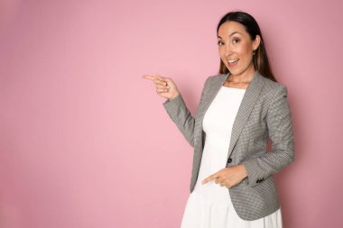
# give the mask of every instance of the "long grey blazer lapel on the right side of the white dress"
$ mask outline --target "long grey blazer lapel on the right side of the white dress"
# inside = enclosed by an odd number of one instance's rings
[[[238,108],[236,119],[232,127],[230,146],[227,151],[227,159],[230,157],[232,150],[236,145],[239,134],[242,132],[244,125],[246,124],[251,111],[255,105],[258,95],[260,94],[261,88],[264,86],[263,76],[256,71],[254,78],[250,82],[249,86],[246,87],[246,93],[243,96],[241,105]]]

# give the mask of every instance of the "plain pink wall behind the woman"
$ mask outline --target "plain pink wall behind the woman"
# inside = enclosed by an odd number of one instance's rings
[[[194,114],[235,9],[255,16],[289,91],[284,225],[341,227],[342,6],[0,0],[0,227],[180,227],[192,148],[142,75],[173,78]]]

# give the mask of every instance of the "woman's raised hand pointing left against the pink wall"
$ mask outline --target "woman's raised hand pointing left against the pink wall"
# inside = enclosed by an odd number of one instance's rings
[[[180,94],[178,87],[176,87],[172,78],[166,78],[159,75],[144,75],[143,78],[152,80],[156,86],[156,93],[168,100],[172,100]]]

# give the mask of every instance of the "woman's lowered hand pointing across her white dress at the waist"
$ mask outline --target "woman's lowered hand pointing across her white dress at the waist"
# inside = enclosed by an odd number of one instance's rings
[[[246,167],[244,165],[236,165],[220,169],[217,173],[202,180],[201,183],[204,185],[210,180],[215,179],[216,184],[220,184],[222,187],[233,187],[239,184],[246,177]]]

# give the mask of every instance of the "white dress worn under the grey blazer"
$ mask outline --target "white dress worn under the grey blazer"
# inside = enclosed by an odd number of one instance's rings
[[[203,179],[226,168],[231,130],[245,92],[246,89],[222,86],[204,115],[206,141],[199,177],[187,201],[181,228],[283,227],[281,209],[263,218],[246,221],[236,214],[227,187],[221,187],[215,180],[201,184]]]

